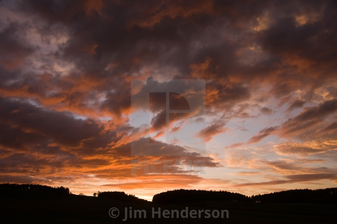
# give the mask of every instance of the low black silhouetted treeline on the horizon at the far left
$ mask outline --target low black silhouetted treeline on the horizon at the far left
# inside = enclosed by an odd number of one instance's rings
[[[69,194],[69,188],[67,187],[51,187],[47,185],[39,184],[0,184],[0,187],[4,188],[15,188],[20,190],[30,190],[30,191],[42,191],[48,193],[57,193],[57,194]]]

